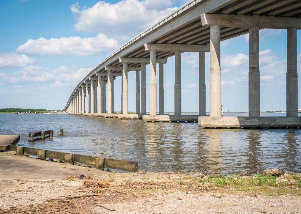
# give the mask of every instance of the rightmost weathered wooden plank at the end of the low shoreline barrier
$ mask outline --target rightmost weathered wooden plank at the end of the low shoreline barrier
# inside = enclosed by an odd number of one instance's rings
[[[123,171],[137,172],[138,162],[124,161],[124,160],[113,159],[113,158],[105,158],[104,167],[110,169],[123,170]]]

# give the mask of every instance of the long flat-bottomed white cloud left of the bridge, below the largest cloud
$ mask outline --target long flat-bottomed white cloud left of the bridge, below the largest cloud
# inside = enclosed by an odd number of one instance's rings
[[[81,38],[79,36],[45,39],[43,37],[29,39],[17,48],[17,52],[39,55],[91,55],[108,49],[117,48],[117,41],[103,34],[96,37]],[[23,55],[22,55],[23,56]],[[24,55],[25,56],[25,55]]]

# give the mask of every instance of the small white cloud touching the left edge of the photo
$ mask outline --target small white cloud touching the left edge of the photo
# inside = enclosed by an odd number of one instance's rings
[[[25,67],[32,64],[35,59],[29,58],[25,54],[17,53],[0,53],[0,68],[1,67]]]

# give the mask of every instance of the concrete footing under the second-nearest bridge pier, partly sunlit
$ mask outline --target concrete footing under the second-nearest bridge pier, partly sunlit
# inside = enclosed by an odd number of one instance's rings
[[[157,115],[143,115],[143,122],[197,122],[198,115],[168,115],[168,114],[157,114]]]

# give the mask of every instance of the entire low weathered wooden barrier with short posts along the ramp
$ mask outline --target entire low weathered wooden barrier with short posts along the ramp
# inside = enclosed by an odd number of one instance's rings
[[[52,158],[64,161],[68,164],[81,163],[95,166],[98,170],[105,168],[123,170],[129,172],[138,171],[138,162],[126,161],[113,158],[101,158],[89,155],[70,154],[66,152],[57,152],[47,149],[37,149],[25,146],[9,145],[9,150],[17,152],[17,155],[33,155],[40,159]]]

